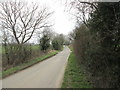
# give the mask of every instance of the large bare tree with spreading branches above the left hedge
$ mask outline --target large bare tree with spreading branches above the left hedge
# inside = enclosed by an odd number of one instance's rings
[[[0,23],[5,30],[11,32],[18,44],[29,41],[36,30],[48,27],[47,20],[52,13],[36,4],[0,2]]]

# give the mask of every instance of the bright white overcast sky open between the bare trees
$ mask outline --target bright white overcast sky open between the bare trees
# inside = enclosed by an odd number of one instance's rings
[[[26,0],[27,2],[37,2],[40,5],[47,6],[51,11],[54,11],[52,15],[52,21],[54,22],[53,31],[57,33],[63,33],[67,35],[74,29],[75,20],[68,12],[65,12],[64,2],[65,0]]]

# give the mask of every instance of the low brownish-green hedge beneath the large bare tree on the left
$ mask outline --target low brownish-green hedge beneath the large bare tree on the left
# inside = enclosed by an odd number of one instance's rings
[[[7,70],[11,67],[28,62],[40,55],[43,55],[42,51],[38,49],[34,50],[33,46],[24,44],[6,44],[3,45],[4,52],[2,52],[2,69]]]

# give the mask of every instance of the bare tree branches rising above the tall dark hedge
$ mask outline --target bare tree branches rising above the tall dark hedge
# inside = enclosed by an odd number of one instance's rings
[[[95,10],[97,10],[96,2],[82,2],[81,0],[66,0],[65,5],[66,10],[69,11],[70,14],[75,16],[77,24],[81,25],[82,23],[84,23],[87,27],[88,20],[91,18],[91,14]]]

